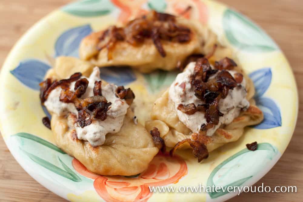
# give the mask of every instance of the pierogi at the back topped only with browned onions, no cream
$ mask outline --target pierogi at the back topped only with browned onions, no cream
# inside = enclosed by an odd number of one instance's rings
[[[173,70],[193,54],[229,55],[216,46],[217,36],[195,20],[151,11],[124,27],[112,26],[85,37],[79,48],[82,60],[99,67],[130,66],[148,73],[155,69]]]

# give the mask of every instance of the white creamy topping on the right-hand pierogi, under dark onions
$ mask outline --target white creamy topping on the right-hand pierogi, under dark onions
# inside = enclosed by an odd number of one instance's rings
[[[198,133],[201,124],[207,124],[205,118],[205,112],[197,111],[194,114],[185,114],[178,110],[179,104],[190,104],[194,103],[196,106],[198,104],[205,104],[204,101],[198,99],[195,96],[195,91],[191,86],[190,78],[194,73],[195,62],[191,62],[187,65],[184,72],[177,75],[175,81],[171,84],[169,88],[169,99],[171,99],[175,104],[175,110],[177,111],[179,120],[185,124],[192,132]],[[228,70],[228,72],[234,76],[236,71]],[[214,78],[217,74],[212,75],[210,78]],[[180,86],[181,83],[182,84]],[[219,124],[214,125],[211,129],[208,129],[207,135],[211,136],[215,131],[221,126],[221,124],[229,124],[236,117],[239,116],[241,108],[247,109],[249,107],[249,102],[246,100],[245,96],[247,91],[245,89],[246,81],[243,78],[241,84],[238,84],[233,90],[228,91],[226,98],[219,101],[219,111],[224,114],[224,116],[219,118]]]

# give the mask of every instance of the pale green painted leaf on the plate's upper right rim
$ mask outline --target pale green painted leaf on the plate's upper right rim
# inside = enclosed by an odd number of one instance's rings
[[[228,41],[246,51],[278,50],[274,41],[248,18],[227,9],[223,15],[223,28]]]

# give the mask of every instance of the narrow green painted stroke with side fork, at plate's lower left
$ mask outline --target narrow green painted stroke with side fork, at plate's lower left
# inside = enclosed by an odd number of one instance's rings
[[[61,175],[62,177],[65,177],[69,180],[72,180],[74,182],[80,182],[82,181],[78,176],[75,177],[74,175],[71,175],[70,173],[62,170],[61,168],[49,163],[48,161],[45,161],[44,159],[35,156],[34,154],[28,153],[27,151],[23,150],[21,147],[19,147],[21,151],[23,151],[32,161],[36,162],[37,164],[41,165],[42,167],[45,167],[46,169]],[[60,160],[61,161],[61,160]],[[62,162],[63,163],[63,162]],[[64,164],[64,163],[63,163]],[[65,165],[65,164],[64,164]],[[65,165],[66,166],[66,165]],[[69,169],[70,170],[70,169]]]

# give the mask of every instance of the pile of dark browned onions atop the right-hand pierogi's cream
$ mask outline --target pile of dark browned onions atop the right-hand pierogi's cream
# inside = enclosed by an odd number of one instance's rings
[[[235,74],[235,78],[225,69],[230,69],[236,66],[235,62],[229,58],[223,58],[217,62],[218,69],[211,69],[211,66],[207,58],[199,58],[196,61],[194,73],[191,75],[190,82],[195,89],[195,96],[201,101],[205,102],[203,106],[188,106],[185,108],[183,105],[179,105],[178,109],[183,110],[189,114],[195,113],[195,111],[204,111],[205,118],[208,125],[217,125],[219,123],[219,117],[223,116],[218,110],[218,103],[220,99],[226,98],[228,91],[235,88],[238,82],[242,81],[243,75],[240,73]],[[209,77],[215,73],[216,77],[209,79]]]

